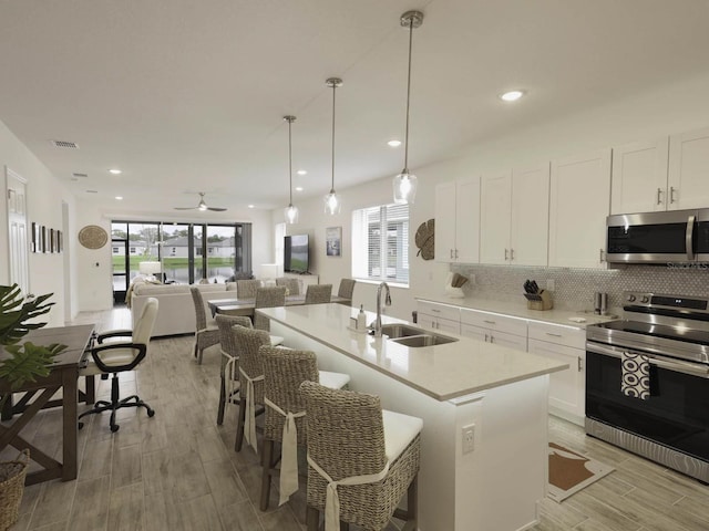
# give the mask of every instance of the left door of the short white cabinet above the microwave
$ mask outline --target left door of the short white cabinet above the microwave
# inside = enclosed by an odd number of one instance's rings
[[[651,212],[670,207],[668,152],[667,136],[613,148],[610,214]]]

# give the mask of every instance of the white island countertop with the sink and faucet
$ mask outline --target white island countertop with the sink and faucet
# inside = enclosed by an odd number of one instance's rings
[[[451,400],[568,368],[568,364],[552,358],[449,333],[438,335],[458,341],[435,346],[403,346],[387,337],[350,330],[350,317],[356,316],[358,310],[341,304],[268,308],[257,312],[438,400]],[[370,323],[376,314],[366,313]],[[407,321],[382,315],[382,323]]]

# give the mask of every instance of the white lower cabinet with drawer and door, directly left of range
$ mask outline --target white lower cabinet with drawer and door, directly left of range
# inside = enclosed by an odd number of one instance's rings
[[[586,332],[530,322],[527,350],[568,364],[549,375],[549,413],[583,425],[586,415]]]

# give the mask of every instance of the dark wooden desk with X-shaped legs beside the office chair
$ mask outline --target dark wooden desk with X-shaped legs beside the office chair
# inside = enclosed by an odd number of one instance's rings
[[[94,324],[45,327],[30,331],[21,342],[39,345],[59,343],[66,347],[54,356],[48,376],[38,377],[34,382],[24,382],[12,389],[13,397],[21,398],[6,407],[3,423],[0,424],[0,451],[8,446],[18,450],[29,448],[30,458],[39,470],[30,469],[25,485],[39,483],[60,478],[62,481],[76,479],[78,473],[78,405],[80,399],[88,404],[93,402],[93,378],[86,378],[86,392],[80,393],[79,369],[86,362],[95,339]],[[0,360],[10,354],[0,346]],[[0,396],[9,393],[7,381],[0,381]],[[61,398],[54,396],[61,392]],[[28,426],[41,409],[62,407],[62,460],[52,457],[54,448],[40,448],[23,437],[22,429]]]

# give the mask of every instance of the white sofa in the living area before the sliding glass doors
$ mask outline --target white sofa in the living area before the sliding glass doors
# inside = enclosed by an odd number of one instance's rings
[[[207,317],[210,316],[207,301],[213,299],[236,299],[236,283],[195,284],[202,292]],[[131,314],[133,326],[143,312],[145,302],[154,296],[158,301],[157,319],[153,326],[153,337],[195,333],[195,306],[188,284],[147,284],[133,285],[131,293]]]

